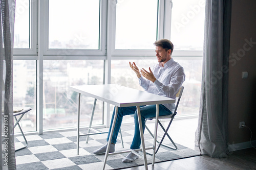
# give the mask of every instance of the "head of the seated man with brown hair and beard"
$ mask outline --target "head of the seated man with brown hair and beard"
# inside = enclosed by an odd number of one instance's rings
[[[168,39],[160,39],[154,43],[156,45],[156,56],[159,63],[164,65],[172,58],[174,45]]]

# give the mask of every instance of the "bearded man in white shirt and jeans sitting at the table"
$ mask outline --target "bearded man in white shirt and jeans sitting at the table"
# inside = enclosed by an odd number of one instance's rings
[[[136,73],[140,85],[145,91],[166,96],[168,98],[176,98],[176,94],[179,91],[182,83],[185,81],[184,69],[175,62],[172,58],[174,45],[167,39],[161,39],[154,43],[156,46],[156,56],[158,64],[156,64],[152,69],[146,71],[144,68],[139,70],[136,64],[129,62],[130,67]],[[172,114],[175,109],[175,104],[163,104],[159,105],[159,116]],[[110,130],[113,123],[115,109],[112,115]],[[145,119],[149,117],[154,117],[156,115],[156,105],[140,106],[141,120],[143,132],[145,129]],[[109,152],[115,152],[115,143],[117,139],[118,132],[121,127],[122,118],[124,115],[134,114],[135,123],[135,133],[130,149],[135,150],[140,148],[141,139],[139,131],[139,123],[136,106],[134,107],[121,107],[118,108],[118,114],[116,119],[116,124],[113,132],[113,137],[110,144]],[[109,140],[110,130],[106,140]],[[108,144],[108,143],[107,143]],[[95,150],[94,154],[105,153],[106,145],[98,150]],[[132,162],[138,158],[134,153],[129,153],[123,162]]]

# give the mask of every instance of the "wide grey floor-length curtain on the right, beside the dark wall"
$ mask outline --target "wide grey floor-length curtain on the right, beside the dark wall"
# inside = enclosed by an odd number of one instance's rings
[[[196,145],[201,154],[228,152],[228,60],[231,0],[206,0],[203,72]]]

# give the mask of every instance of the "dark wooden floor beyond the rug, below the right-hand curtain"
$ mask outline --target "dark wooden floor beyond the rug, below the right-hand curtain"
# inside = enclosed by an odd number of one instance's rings
[[[144,166],[125,168],[125,170],[142,170]],[[154,170],[254,170],[256,169],[256,150],[254,148],[235,151],[227,158],[211,158],[209,156],[196,156],[148,165]]]

